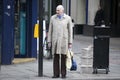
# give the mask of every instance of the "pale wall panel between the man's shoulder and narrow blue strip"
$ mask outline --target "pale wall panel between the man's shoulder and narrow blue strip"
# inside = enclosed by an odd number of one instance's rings
[[[71,0],[71,17],[76,24],[85,24],[86,0]]]

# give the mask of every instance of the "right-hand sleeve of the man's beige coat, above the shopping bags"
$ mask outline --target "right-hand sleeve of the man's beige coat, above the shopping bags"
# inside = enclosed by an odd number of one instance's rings
[[[68,20],[68,43],[72,43],[73,27],[71,17]]]

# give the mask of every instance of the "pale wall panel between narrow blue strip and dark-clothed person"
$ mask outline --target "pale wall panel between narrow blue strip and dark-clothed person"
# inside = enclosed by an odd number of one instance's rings
[[[88,1],[88,25],[94,25],[94,17],[99,7],[99,0]]]

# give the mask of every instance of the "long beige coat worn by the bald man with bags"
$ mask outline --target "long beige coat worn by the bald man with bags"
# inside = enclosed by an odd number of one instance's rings
[[[64,14],[59,19],[53,15],[49,23],[48,42],[52,43],[52,54],[66,54],[68,43],[72,43],[72,20]]]

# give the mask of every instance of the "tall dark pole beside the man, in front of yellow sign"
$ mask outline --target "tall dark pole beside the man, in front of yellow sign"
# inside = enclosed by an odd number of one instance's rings
[[[39,0],[39,60],[38,76],[43,76],[43,0]]]

